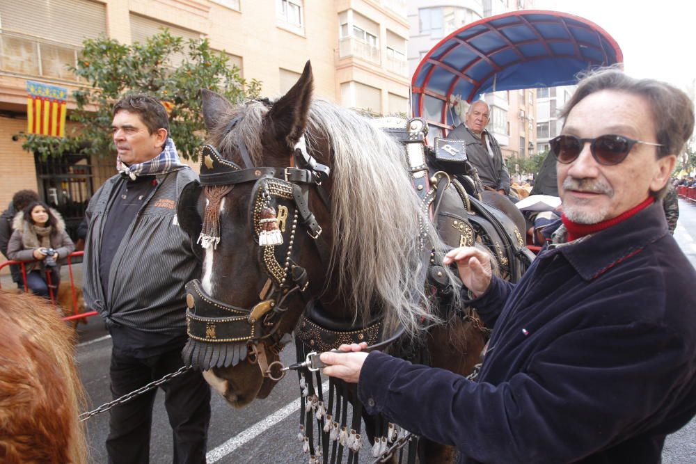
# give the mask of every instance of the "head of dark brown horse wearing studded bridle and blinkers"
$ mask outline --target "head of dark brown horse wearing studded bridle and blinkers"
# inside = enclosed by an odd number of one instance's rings
[[[331,179],[321,164],[325,143],[313,141],[309,154],[304,142],[312,85],[307,63],[272,105],[232,105],[202,91],[209,131],[200,153],[203,189],[184,191],[179,207],[184,226],[196,222],[191,211],[202,213],[203,275],[187,285],[184,358],[234,406],[270,392],[283,335],[306,295],[325,285]]]

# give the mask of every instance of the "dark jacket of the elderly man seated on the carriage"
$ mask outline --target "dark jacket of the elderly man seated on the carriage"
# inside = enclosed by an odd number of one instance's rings
[[[484,148],[481,138],[463,124],[455,127],[447,138],[464,141],[466,143],[466,157],[477,168],[481,183],[491,187],[491,189],[504,190],[507,195],[510,193],[510,175],[505,167],[503,152],[500,151],[500,145],[493,134],[489,131],[484,131],[484,133],[491,142],[492,157]]]

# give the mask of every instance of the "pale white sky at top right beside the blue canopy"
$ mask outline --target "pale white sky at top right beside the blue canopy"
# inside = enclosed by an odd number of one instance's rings
[[[690,0],[536,0],[535,9],[589,19],[621,47],[633,77],[689,90],[696,79],[696,2]]]

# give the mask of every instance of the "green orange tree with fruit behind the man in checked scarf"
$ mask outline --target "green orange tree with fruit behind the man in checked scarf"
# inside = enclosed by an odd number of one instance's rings
[[[199,89],[207,88],[238,102],[257,97],[261,83],[245,81],[239,68],[228,67],[222,51],[210,48],[207,39],[184,41],[167,29],[145,43],[122,45],[99,38],[83,42],[77,67],[70,69],[89,84],[73,93],[77,109],[70,120],[79,122],[65,138],[24,134],[24,150],[41,157],[64,153],[113,154],[111,109],[129,92],[147,93],[160,99],[170,111],[169,124],[177,150],[184,158],[198,158],[205,135]]]

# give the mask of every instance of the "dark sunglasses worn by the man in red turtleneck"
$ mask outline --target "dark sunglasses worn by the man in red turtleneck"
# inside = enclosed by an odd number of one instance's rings
[[[583,151],[585,143],[590,142],[590,152],[592,157],[599,164],[612,166],[621,163],[626,159],[628,152],[631,151],[636,143],[663,147],[659,143],[643,142],[632,138],[608,134],[597,138],[580,138],[576,136],[561,135],[548,141],[551,151],[559,163],[572,163]]]

